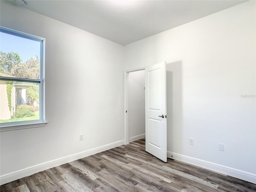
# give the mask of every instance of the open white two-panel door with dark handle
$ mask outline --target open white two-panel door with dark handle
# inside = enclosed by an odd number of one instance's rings
[[[146,151],[167,162],[166,62],[145,70]]]

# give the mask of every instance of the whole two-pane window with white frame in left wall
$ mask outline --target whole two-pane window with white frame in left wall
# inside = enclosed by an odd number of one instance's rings
[[[44,38],[0,28],[0,126],[45,124]]]

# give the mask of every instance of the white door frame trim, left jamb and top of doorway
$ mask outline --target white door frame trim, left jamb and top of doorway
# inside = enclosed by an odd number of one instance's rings
[[[135,72],[135,71],[141,71],[145,70],[146,67],[141,67],[141,68],[136,68],[132,70],[125,70],[124,71],[124,144],[128,145],[129,142],[129,129],[128,129],[128,84],[127,84],[127,79],[128,79],[128,74],[130,72]]]

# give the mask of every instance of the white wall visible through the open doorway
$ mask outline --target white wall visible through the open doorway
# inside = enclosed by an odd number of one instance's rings
[[[127,86],[129,138],[137,140],[145,134],[145,70],[130,72]]]

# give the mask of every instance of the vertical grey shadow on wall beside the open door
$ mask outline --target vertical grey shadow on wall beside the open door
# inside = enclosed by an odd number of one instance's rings
[[[182,61],[166,64],[167,151],[182,152]],[[182,153],[181,153],[182,154]]]

